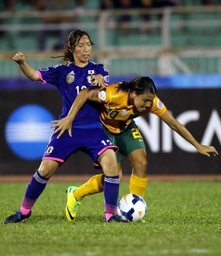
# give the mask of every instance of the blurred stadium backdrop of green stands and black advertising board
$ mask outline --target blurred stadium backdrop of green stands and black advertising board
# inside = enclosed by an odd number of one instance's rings
[[[200,143],[213,145],[221,154],[219,0],[105,10],[100,9],[101,0],[85,0],[82,8],[72,0],[69,9],[42,11],[33,8],[33,1],[16,0],[13,10],[6,8],[6,2],[0,3],[0,175],[31,174],[38,168],[50,137],[50,121],[61,112],[54,87],[29,81],[12,57],[24,52],[34,69],[58,64],[59,59],[51,56],[62,53],[59,31],[73,29],[91,35],[95,42],[91,60],[106,65],[110,83],[129,81],[135,73],[150,76],[158,97],[174,116]],[[122,20],[125,15],[129,18]],[[54,17],[61,21],[45,22]],[[135,121],[147,145],[149,174],[221,173],[220,156],[198,154],[155,116]],[[126,158],[122,165],[123,173],[130,174]],[[91,159],[81,152],[58,172],[96,173]]]

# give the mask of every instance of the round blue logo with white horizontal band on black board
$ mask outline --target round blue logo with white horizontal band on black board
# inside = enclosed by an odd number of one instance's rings
[[[12,152],[21,159],[41,159],[48,145],[54,116],[37,104],[17,108],[7,120],[5,139]]]

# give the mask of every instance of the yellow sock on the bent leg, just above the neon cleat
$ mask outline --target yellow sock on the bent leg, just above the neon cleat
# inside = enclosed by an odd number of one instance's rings
[[[90,194],[97,194],[104,191],[104,185],[102,183],[102,175],[104,174],[98,174],[94,175],[90,178],[86,183],[78,187],[76,190],[74,190],[74,197],[77,200],[82,200],[85,196],[88,196]]]

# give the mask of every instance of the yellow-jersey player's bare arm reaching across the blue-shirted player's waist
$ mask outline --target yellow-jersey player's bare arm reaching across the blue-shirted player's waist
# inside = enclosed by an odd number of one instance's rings
[[[50,126],[50,128],[58,127],[56,130],[54,130],[52,134],[54,135],[60,132],[57,137],[57,139],[59,139],[60,136],[63,135],[65,130],[68,130],[69,135],[72,137],[72,132],[71,132],[72,123],[75,117],[77,116],[77,113],[84,106],[87,100],[98,102],[99,92],[100,92],[100,88],[91,88],[91,89],[86,88],[84,90],[81,90],[79,92],[79,95],[77,95],[76,99],[74,100],[74,103],[72,104],[72,107],[68,115],[63,119],[51,121],[51,123],[55,123],[55,124]]]

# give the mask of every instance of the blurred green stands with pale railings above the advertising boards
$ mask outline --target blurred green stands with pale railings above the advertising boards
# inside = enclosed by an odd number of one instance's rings
[[[121,21],[122,15],[130,15],[130,21]],[[72,17],[72,22],[45,24],[49,16]],[[23,76],[12,62],[19,50],[36,69],[57,64],[51,55],[61,53],[54,49],[59,38],[49,37],[49,47],[40,51],[39,31],[76,28],[90,33],[93,61],[104,63],[113,75],[221,73],[221,5],[216,5],[0,12],[0,76]]]

